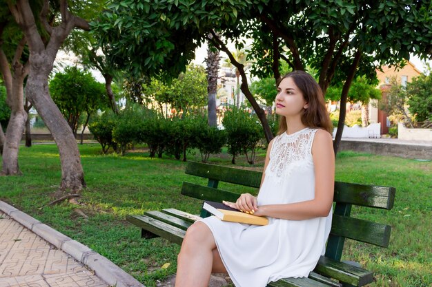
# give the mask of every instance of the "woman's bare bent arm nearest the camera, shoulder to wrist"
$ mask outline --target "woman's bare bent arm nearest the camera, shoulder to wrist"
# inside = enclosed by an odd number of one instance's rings
[[[313,164],[315,169],[315,198],[291,204],[258,206],[255,215],[264,215],[286,220],[306,220],[328,215],[333,204],[335,182],[335,155],[333,140],[328,132],[319,129],[313,140]]]

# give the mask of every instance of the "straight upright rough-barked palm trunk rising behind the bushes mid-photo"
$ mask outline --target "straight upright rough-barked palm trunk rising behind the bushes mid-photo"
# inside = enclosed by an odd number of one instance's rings
[[[207,49],[207,92],[208,92],[208,125],[217,126],[216,114],[216,94],[217,94],[217,76],[219,74],[219,51],[213,52]]]

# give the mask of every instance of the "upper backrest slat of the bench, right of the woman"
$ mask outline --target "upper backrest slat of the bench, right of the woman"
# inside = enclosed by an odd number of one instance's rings
[[[335,182],[334,201],[379,209],[392,209],[395,193],[394,187]]]

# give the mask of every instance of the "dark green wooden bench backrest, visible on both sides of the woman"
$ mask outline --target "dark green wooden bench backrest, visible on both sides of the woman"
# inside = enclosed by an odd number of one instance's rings
[[[184,182],[181,194],[212,201],[235,201],[239,197],[238,193],[217,189],[219,181],[259,188],[262,178],[262,173],[258,171],[201,162],[189,162],[185,172],[192,176],[208,178],[208,184],[205,187]],[[389,210],[393,208],[394,200],[395,188],[393,187],[335,182],[333,222],[331,234],[328,237],[326,257],[340,260],[345,238],[387,247],[391,226],[350,217],[351,206],[358,205]],[[202,211],[201,215],[206,217],[208,213]]]

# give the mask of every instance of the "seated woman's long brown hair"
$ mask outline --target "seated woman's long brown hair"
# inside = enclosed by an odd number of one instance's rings
[[[310,74],[303,71],[294,71],[283,76],[278,82],[277,86],[284,78],[292,78],[295,85],[300,89],[303,94],[304,100],[308,103],[308,108],[302,111],[302,123],[306,127],[320,128],[333,134],[333,124],[331,123],[330,116],[326,109],[324,101],[324,94],[320,85],[315,81]],[[286,131],[286,119],[280,116],[279,130],[277,134],[282,134]]]

